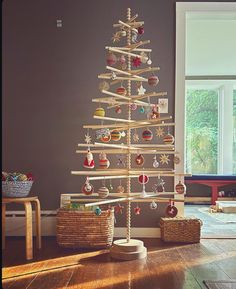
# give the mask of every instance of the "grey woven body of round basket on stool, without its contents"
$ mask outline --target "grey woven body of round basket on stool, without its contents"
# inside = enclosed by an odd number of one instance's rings
[[[24,198],[29,195],[33,181],[2,181],[2,196],[5,198]]]

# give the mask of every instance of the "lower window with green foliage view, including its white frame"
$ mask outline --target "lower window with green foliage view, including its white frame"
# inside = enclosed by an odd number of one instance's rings
[[[186,81],[185,167],[193,174],[236,174],[236,97],[223,81]]]

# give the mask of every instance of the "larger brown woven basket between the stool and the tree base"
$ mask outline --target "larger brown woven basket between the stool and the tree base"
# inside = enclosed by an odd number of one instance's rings
[[[59,209],[57,243],[66,248],[107,248],[112,245],[114,210],[93,211]]]

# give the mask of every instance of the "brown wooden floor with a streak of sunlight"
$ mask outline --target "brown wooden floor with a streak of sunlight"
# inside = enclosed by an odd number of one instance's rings
[[[148,257],[116,261],[108,250],[71,250],[43,238],[25,261],[24,239],[8,238],[3,253],[4,289],[199,289],[203,280],[236,279],[236,241],[204,239],[199,244],[164,244],[143,239]]]

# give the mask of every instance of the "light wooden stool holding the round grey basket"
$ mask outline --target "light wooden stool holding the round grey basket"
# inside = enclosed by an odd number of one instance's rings
[[[36,246],[41,249],[41,219],[40,202],[38,197],[29,198],[3,198],[2,199],[2,247],[5,248],[5,226],[6,226],[6,204],[19,203],[25,206],[25,238],[26,238],[26,259],[33,258],[33,230],[32,230],[32,206],[35,204],[35,225],[36,225]]]

